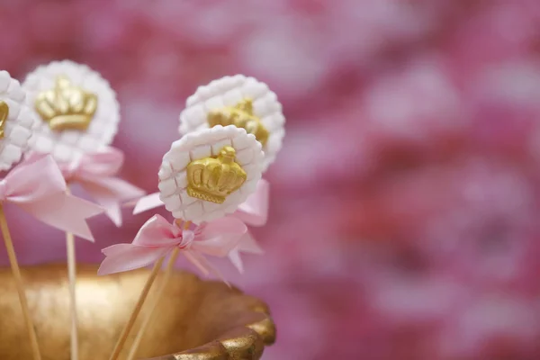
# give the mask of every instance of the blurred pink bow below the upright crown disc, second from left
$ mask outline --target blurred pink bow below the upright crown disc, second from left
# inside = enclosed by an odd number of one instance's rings
[[[144,191],[115,175],[123,164],[123,153],[116,148],[84,154],[75,164],[58,164],[67,183],[80,184],[105,209],[116,226],[121,226],[121,203],[139,198]]]

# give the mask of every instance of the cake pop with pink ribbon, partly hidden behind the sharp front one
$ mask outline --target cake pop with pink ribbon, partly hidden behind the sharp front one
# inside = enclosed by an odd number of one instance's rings
[[[200,86],[186,101],[180,113],[181,135],[208,129],[216,125],[234,125],[253,134],[265,153],[263,172],[274,162],[284,139],[284,113],[277,96],[265,83],[254,77],[224,76]],[[261,180],[256,191],[238,207],[234,216],[250,226],[266,224],[269,202],[269,184]],[[157,193],[149,194],[136,203],[133,213],[148,211],[162,205]],[[240,242],[238,249],[230,253],[230,259],[242,269],[239,252],[260,254],[261,248],[249,234]]]

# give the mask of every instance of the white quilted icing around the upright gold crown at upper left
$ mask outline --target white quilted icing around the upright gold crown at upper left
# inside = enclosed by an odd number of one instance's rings
[[[72,85],[97,95],[97,110],[88,129],[53,131],[34,110],[36,96],[54,88],[58,76],[67,76]],[[27,104],[38,121],[29,147],[33,151],[50,153],[57,161],[76,161],[84,153],[95,152],[109,145],[118,130],[120,105],[107,80],[85,65],[73,61],[54,61],[37,67],[23,82]]]

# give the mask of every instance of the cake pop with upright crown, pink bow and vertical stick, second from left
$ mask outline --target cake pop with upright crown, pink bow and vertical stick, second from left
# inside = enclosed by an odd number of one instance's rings
[[[79,184],[121,225],[121,202],[142,196],[138,187],[116,177],[123,153],[109,147],[120,122],[120,105],[109,83],[97,72],[72,61],[37,67],[25,79],[27,103],[37,121],[29,157],[50,154],[67,184]],[[67,192],[70,189],[67,187]],[[78,359],[76,320],[76,251],[66,234],[71,297],[71,360]]]

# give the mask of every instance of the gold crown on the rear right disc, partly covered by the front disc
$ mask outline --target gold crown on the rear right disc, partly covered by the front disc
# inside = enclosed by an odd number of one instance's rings
[[[213,110],[206,117],[210,127],[216,125],[234,125],[243,128],[248,134],[253,134],[261,145],[265,146],[270,133],[266,130],[263,122],[253,113],[253,101],[244,99],[235,106],[225,106],[218,110]]]

